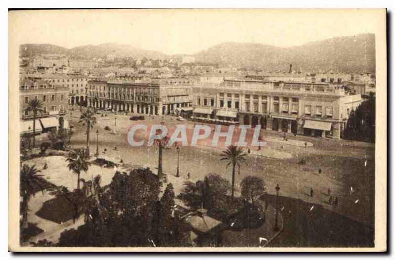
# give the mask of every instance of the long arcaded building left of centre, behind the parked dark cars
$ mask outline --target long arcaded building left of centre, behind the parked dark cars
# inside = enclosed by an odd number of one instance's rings
[[[149,82],[92,80],[88,82],[88,106],[138,114],[167,115],[190,107],[193,82],[184,78]]]

